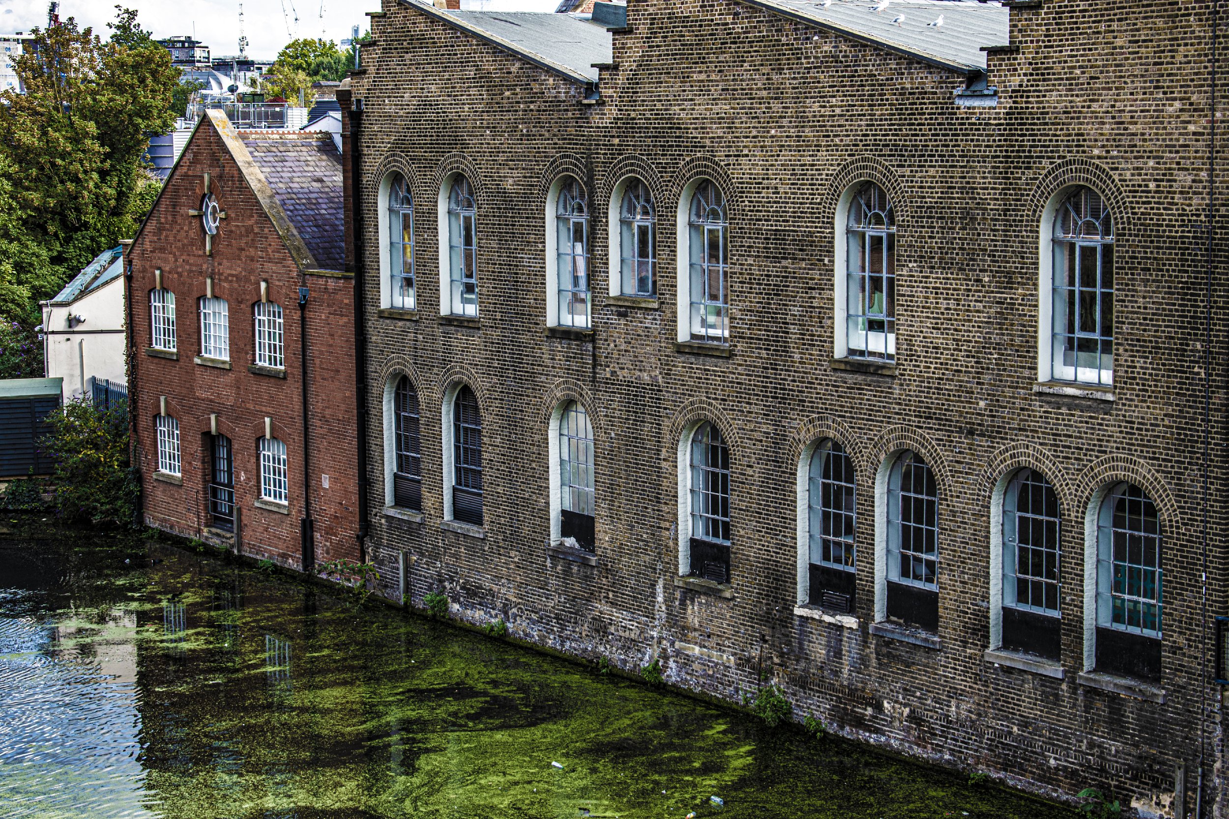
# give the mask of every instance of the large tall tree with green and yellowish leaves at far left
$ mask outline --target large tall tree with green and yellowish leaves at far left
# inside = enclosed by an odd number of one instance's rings
[[[37,341],[37,301],[54,296],[102,250],[136,232],[159,183],[141,165],[150,134],[175,123],[179,71],[119,9],[111,39],[73,18],[34,28],[14,71],[26,93],[0,93],[0,322],[11,343]],[[38,375],[37,361],[0,375]]]

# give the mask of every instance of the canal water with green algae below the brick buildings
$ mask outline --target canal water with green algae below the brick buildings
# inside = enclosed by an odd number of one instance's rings
[[[289,577],[0,535],[5,817],[691,812],[1073,815]]]

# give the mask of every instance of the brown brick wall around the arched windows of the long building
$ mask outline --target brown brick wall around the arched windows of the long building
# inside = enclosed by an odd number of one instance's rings
[[[504,618],[517,636],[624,668],[656,656],[672,683],[730,700],[764,670],[799,717],[1045,793],[1097,785],[1170,815],[1175,765],[1186,763],[1193,802],[1204,705],[1209,777],[1222,742],[1200,669],[1207,15],[1206,4],[1016,9],[1020,52],[991,55],[998,107],[960,108],[960,76],[906,56],[737,2],[633,0],[629,31],[614,36],[617,68],[602,71],[606,102],[590,107],[563,79],[386,0],[354,79],[366,112],[371,553],[386,577],[406,551],[415,600],[445,588],[471,621]],[[543,203],[552,174],[578,166],[595,214],[592,341],[544,333]],[[413,320],[377,316],[376,187],[393,167],[419,205]],[[462,167],[478,198],[481,329],[436,318],[435,203],[444,176]],[[602,295],[606,203],[629,167],[659,205],[651,309]],[[673,347],[673,210],[696,176],[719,182],[729,201],[728,359]],[[830,365],[836,201],[863,178],[897,208],[893,376]],[[1034,392],[1040,214],[1073,182],[1115,209],[1113,402]],[[1218,307],[1223,295],[1218,280]],[[380,514],[381,394],[399,372],[423,408],[422,523]],[[481,539],[440,526],[440,404],[458,379],[483,410]],[[596,566],[544,549],[547,422],[567,397],[595,425]],[[701,417],[731,448],[731,599],[673,584],[676,447]],[[823,436],[858,469],[853,627],[794,613],[798,458]],[[905,446],[939,475],[938,650],[869,631],[875,472]],[[1021,465],[1043,472],[1062,503],[1062,680],[983,659],[991,492]],[[1163,704],[1077,679],[1084,513],[1099,486],[1123,479],[1149,491],[1165,526]],[[1219,505],[1209,544],[1209,608],[1219,611]]]

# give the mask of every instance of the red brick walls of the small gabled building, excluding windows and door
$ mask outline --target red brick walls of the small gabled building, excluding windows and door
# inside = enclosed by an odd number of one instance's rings
[[[205,255],[199,216],[204,174],[226,219]],[[253,195],[221,139],[206,122],[184,150],[157,205],[132,246],[133,338],[135,354],[134,430],[141,469],[146,522],[186,537],[200,538],[209,526],[208,483],[210,415],[231,438],[235,502],[241,512],[245,554],[288,566],[301,565],[300,518],[304,514],[304,446],[299,287],[310,290],[307,365],[311,415],[312,514],[316,560],[356,559],[358,468],[354,435],[354,291],[353,279],[299,274],[285,244]],[[175,292],[178,360],[146,355],[151,344],[149,291],[155,269]],[[229,302],[231,368],[194,363],[200,352],[197,300],[213,276],[214,295]],[[261,281],[269,301],[281,306],[285,322],[285,377],[248,372],[254,362],[252,306]],[[167,398],[167,413],[179,421],[183,484],[152,478],[157,469],[154,416]],[[259,508],[257,438],[264,419],[286,444],[289,514]],[[329,476],[328,489],[322,476]],[[208,537],[208,535],[205,535]]]

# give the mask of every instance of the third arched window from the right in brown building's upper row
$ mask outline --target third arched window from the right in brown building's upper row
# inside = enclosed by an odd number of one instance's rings
[[[713,182],[704,179],[696,187],[688,223],[691,339],[724,344],[730,340],[730,223],[725,196]]]

